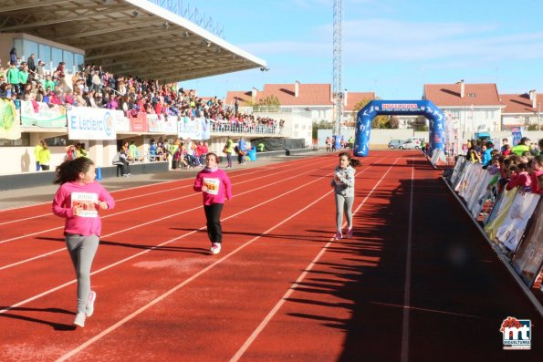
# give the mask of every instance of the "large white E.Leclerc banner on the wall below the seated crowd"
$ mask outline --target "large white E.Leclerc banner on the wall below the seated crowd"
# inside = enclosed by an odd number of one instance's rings
[[[72,107],[68,109],[70,140],[117,140],[113,119],[118,110]]]

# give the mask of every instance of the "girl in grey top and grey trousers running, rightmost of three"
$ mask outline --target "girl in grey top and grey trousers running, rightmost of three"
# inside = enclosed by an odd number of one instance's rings
[[[351,159],[349,152],[339,153],[339,165],[336,167],[334,177],[330,185],[334,188],[336,198],[336,236],[339,240],[343,237],[341,224],[343,212],[347,217],[347,238],[352,236],[352,204],[354,203],[354,173],[355,167],[360,166],[360,160]]]

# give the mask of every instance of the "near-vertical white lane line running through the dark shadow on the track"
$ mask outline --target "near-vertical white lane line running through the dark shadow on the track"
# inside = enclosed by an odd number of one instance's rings
[[[403,285],[402,362],[409,361],[409,311],[411,309],[411,252],[412,252],[412,194],[414,187],[414,159],[411,159],[411,191],[409,197],[409,226],[405,255],[405,284]]]

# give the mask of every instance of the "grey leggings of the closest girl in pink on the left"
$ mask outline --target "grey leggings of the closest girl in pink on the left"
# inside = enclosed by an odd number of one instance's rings
[[[78,278],[78,313],[85,312],[90,294],[90,265],[98,250],[98,235],[66,234],[66,247]]]

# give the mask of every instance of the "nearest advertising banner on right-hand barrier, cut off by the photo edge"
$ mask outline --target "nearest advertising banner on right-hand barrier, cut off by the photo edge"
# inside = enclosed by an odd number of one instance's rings
[[[543,202],[539,202],[530,224],[513,258],[513,267],[528,286],[534,284],[543,265]]]

